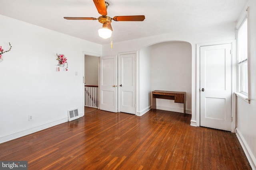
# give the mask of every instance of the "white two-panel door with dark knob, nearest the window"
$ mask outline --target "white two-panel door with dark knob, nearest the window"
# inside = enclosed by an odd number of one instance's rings
[[[231,131],[231,44],[200,47],[200,126]]]

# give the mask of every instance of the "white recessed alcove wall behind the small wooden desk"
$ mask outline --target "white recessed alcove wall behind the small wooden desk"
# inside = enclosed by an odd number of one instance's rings
[[[169,41],[150,46],[151,91],[186,92],[186,113],[191,113],[191,61],[190,43]],[[184,106],[174,100],[156,99],[156,108],[183,113]]]

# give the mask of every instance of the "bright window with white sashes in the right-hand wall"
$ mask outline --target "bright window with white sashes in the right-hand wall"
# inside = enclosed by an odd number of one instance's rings
[[[247,18],[237,29],[238,92],[248,96]]]

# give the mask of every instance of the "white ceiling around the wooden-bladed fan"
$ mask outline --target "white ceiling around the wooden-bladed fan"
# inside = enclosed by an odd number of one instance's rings
[[[248,0],[106,0],[108,16],[145,15],[144,21],[113,21],[113,41],[126,41],[177,30],[194,30],[235,22]],[[98,20],[65,20],[100,14],[93,0],[0,0],[0,14],[107,44],[98,36]],[[8,23],[0,23],[8,24]]]

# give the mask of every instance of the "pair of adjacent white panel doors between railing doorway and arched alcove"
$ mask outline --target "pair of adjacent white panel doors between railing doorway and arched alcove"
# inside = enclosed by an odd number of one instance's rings
[[[100,57],[100,109],[136,113],[136,52]]]

